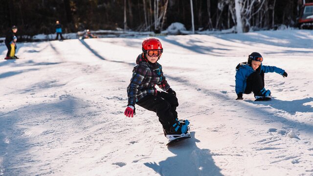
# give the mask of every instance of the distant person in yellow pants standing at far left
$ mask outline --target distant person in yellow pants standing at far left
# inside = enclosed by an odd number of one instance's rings
[[[16,41],[18,38],[16,37],[16,32],[18,31],[18,28],[14,25],[12,26],[11,30],[5,35],[5,45],[8,48],[8,52],[6,53],[6,57],[4,59],[19,59],[15,55],[16,51]]]

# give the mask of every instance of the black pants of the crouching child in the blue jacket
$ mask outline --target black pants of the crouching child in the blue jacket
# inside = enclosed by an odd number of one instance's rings
[[[254,95],[258,94],[264,88],[264,72],[261,74],[258,71],[253,72],[246,80],[245,94],[250,94],[252,91]]]

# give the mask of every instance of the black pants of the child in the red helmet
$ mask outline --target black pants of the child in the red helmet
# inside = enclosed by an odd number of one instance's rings
[[[178,100],[175,95],[166,92],[157,92],[157,95],[146,95],[139,100],[137,105],[146,110],[156,112],[158,120],[161,122],[164,129],[168,130],[177,119]]]

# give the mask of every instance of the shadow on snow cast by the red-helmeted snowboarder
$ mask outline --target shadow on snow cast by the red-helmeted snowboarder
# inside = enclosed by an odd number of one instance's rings
[[[168,146],[168,150],[175,156],[164,161],[144,163],[161,176],[223,176],[221,169],[215,165],[209,149],[199,149],[195,132],[190,132],[192,138],[180,141],[176,145]]]

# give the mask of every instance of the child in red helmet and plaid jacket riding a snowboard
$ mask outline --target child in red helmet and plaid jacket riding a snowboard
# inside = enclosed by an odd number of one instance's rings
[[[170,88],[163,76],[162,66],[157,63],[162,52],[162,44],[158,39],[149,38],[142,42],[142,53],[136,59],[137,65],[134,66],[133,77],[127,88],[128,105],[124,114],[133,117],[137,104],[156,112],[165,135],[187,133],[189,121],[179,122],[176,92]],[[157,91],[156,85],[164,91]]]

